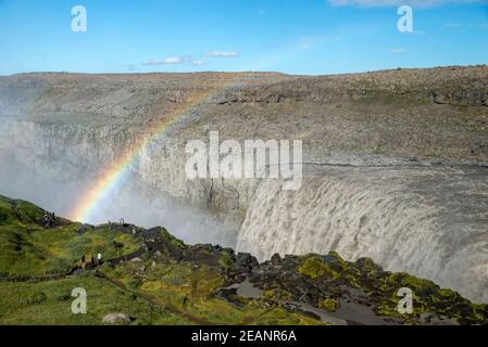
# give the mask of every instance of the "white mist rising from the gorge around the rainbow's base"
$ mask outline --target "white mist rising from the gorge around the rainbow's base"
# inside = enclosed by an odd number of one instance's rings
[[[0,152],[0,194],[35,203],[58,216],[68,216],[88,189],[90,179],[55,179],[35,172],[7,152]],[[87,177],[89,177],[87,175]],[[142,182],[129,172],[89,216],[90,224],[120,221],[143,228],[164,227],[188,244],[235,247],[237,231],[220,226],[204,210],[190,207]]]

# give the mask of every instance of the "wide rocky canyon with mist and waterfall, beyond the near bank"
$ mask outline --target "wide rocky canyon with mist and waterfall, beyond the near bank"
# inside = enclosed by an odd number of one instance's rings
[[[175,114],[161,136],[149,133]],[[185,145],[211,131],[242,143],[301,140],[301,189],[189,180]],[[0,194],[70,217],[141,138],[150,141],[107,208],[85,222],[164,224],[185,242],[260,260],[337,250],[488,301],[487,66],[0,77]]]

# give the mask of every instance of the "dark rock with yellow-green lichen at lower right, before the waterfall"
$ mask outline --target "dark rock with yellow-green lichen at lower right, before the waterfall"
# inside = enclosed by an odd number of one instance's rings
[[[428,280],[384,271],[368,258],[350,262],[335,252],[275,256],[253,267],[247,277],[264,291],[266,300],[304,303],[325,312],[335,312],[343,305],[346,311],[356,311],[355,323],[371,323],[365,317],[376,317],[375,322],[385,324],[488,323],[487,305],[472,304]],[[413,293],[412,314],[399,312],[400,288]]]

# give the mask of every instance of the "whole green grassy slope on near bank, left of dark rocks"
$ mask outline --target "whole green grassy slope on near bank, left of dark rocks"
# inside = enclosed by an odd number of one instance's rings
[[[138,248],[136,237],[101,227],[83,234],[76,232],[79,224],[70,222],[43,229],[38,226],[43,213],[27,202],[0,196],[2,277],[67,273],[83,254],[100,250],[105,259],[116,257],[114,242],[124,244],[121,255]],[[143,266],[148,270],[139,278],[134,274],[141,264],[123,262],[105,264],[100,271],[102,278],[85,273],[39,283],[0,282],[0,324],[101,324],[105,314],[118,312],[128,314],[133,324],[320,323],[283,308],[263,308],[252,300],[236,307],[212,297],[224,282],[215,269],[193,269],[190,264],[152,266],[149,260]],[[75,287],[87,291],[87,314],[71,311]]]

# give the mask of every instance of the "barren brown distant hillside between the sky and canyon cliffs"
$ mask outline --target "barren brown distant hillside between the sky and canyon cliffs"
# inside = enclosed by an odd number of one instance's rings
[[[204,93],[198,121],[175,136],[204,136],[204,129],[238,139],[286,134],[311,150],[488,164],[487,66],[317,77],[25,74],[0,78],[0,115],[137,133]]]

